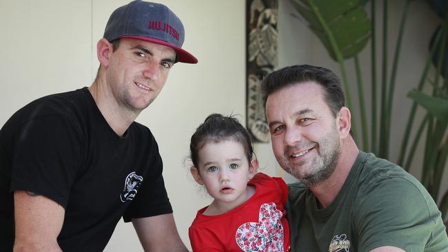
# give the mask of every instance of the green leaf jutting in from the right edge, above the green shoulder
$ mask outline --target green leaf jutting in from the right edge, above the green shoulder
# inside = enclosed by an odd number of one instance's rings
[[[418,90],[412,90],[407,94],[416,103],[427,109],[429,113],[440,120],[448,120],[448,99],[429,96]]]

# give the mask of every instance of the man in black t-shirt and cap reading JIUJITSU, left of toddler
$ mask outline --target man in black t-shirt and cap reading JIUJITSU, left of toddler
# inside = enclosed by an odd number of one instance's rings
[[[123,217],[145,251],[187,251],[150,129],[134,122],[161,92],[184,29],[159,3],[116,9],[90,87],[39,98],[0,130],[0,248],[102,251]]]

